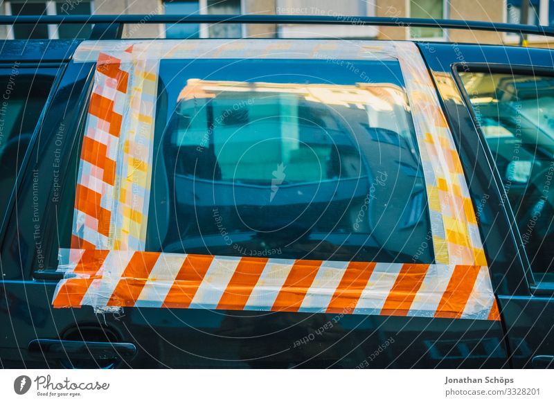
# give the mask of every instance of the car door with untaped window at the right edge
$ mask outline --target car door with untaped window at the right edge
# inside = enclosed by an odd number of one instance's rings
[[[553,53],[462,45],[422,52],[472,167],[510,360],[517,368],[552,366]]]

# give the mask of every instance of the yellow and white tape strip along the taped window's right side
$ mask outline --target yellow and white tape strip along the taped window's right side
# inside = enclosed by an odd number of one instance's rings
[[[435,260],[487,265],[458,151],[427,66],[412,42],[395,42],[395,48],[424,166]]]

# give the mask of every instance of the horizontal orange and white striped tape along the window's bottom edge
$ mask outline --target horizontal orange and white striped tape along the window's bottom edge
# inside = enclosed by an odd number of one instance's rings
[[[54,307],[498,319],[486,267],[62,250]]]

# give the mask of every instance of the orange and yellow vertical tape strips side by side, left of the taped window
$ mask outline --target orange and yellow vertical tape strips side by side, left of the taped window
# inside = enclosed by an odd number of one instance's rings
[[[143,250],[148,222],[157,60],[98,54],[84,129],[74,248]]]

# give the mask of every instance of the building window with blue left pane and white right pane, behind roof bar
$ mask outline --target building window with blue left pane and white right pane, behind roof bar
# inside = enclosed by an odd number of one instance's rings
[[[166,14],[240,14],[240,0],[166,0]],[[240,24],[166,24],[167,38],[239,38]]]

